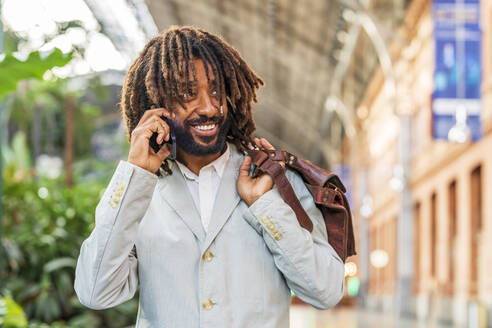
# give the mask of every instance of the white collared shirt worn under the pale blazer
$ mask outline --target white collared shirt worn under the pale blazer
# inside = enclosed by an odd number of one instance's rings
[[[215,196],[219,190],[220,180],[229,161],[230,154],[231,151],[227,144],[226,151],[219,158],[202,167],[198,176],[187,168],[186,165],[176,161],[185,178],[186,185],[190,190],[196,208],[199,210],[205,231],[207,231],[208,225],[210,224]]]

